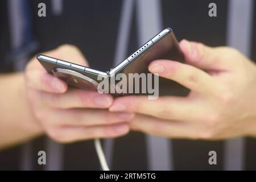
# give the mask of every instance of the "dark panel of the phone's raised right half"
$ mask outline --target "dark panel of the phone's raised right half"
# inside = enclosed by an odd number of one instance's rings
[[[152,42],[150,47],[146,47],[146,50],[144,50],[139,56],[135,57],[135,59],[131,60],[125,68],[117,73],[125,73],[126,75],[129,73],[150,73],[148,72],[148,65],[152,61],[159,59],[174,60],[184,63],[184,56],[179,47],[179,43],[175,38],[174,32],[172,32],[172,30],[169,28],[166,30],[168,30],[168,32],[164,34],[162,38],[156,41],[153,40],[154,42]],[[159,36],[159,34],[155,37],[157,36]],[[152,39],[150,41],[152,41]],[[147,43],[144,45],[147,45]],[[144,48],[144,45],[140,49]],[[135,53],[137,52],[138,51]],[[131,56],[134,56],[134,54]],[[132,58],[131,56],[130,58]],[[188,92],[189,90],[187,88],[177,84],[177,82],[159,77],[159,96],[185,96],[188,94]]]

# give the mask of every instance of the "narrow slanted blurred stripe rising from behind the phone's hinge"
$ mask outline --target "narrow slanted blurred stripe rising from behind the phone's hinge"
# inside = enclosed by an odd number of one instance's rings
[[[126,57],[128,44],[129,44],[129,34],[131,30],[131,19],[133,17],[133,9],[134,9],[134,0],[123,1],[121,13],[120,13],[117,43],[115,46],[113,67],[121,63],[121,61],[123,61]],[[105,139],[104,152],[105,152],[106,160],[108,162],[110,169],[112,167],[113,148],[114,148],[114,140]]]

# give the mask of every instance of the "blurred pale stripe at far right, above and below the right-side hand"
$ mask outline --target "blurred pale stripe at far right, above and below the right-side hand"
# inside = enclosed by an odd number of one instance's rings
[[[229,0],[227,26],[227,45],[239,49],[246,56],[250,56],[253,0]],[[244,145],[243,138],[230,139],[225,142],[225,170],[243,170]]]

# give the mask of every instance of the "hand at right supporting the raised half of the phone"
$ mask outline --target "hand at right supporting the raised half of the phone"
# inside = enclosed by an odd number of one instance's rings
[[[171,138],[256,136],[256,67],[236,49],[180,42],[188,64],[155,60],[148,69],[191,90],[187,97],[116,98],[110,111],[139,113],[134,130]],[[205,70],[205,71],[203,71]]]

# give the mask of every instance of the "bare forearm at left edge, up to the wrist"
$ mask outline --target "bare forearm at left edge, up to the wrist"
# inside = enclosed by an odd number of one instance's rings
[[[2,74],[0,85],[0,149],[42,135],[27,102],[24,74]]]

